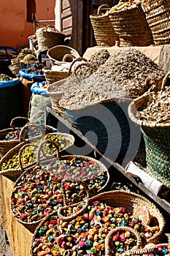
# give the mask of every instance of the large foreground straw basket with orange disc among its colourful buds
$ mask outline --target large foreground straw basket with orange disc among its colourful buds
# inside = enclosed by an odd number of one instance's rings
[[[100,203],[103,203],[103,208],[100,205]],[[94,206],[94,207],[92,208],[91,206]],[[98,206],[101,206],[102,209],[97,212],[96,208]],[[117,212],[119,208],[122,208],[127,210],[128,213],[133,214],[133,212],[138,207],[141,207],[141,206],[147,207],[148,211],[150,211],[150,215],[152,215],[152,218],[155,219],[156,222],[158,222],[158,227],[159,227],[158,233],[154,233],[154,235],[148,238],[144,244],[141,243],[141,238],[139,236],[139,233],[136,232],[134,228],[131,229],[125,225],[120,226],[120,223],[118,223],[117,225],[116,217],[114,218],[115,219],[114,224],[112,223],[112,217],[111,217],[113,214],[112,210],[110,211],[110,214],[109,214],[110,219],[107,219],[108,221],[107,224],[106,222],[104,221],[102,222],[100,220],[100,219],[103,219],[102,217],[104,216],[102,211],[107,211],[107,208],[108,208],[108,211],[110,207],[116,208]],[[63,215],[64,211],[66,214]],[[117,215],[119,216],[119,214]],[[121,218],[123,218],[123,213],[121,214]],[[57,227],[56,227],[56,223],[57,223]],[[62,225],[62,223],[64,224]],[[79,226],[77,227],[77,225]],[[119,227],[117,227],[116,225]],[[68,233],[68,235],[73,234],[72,243],[74,244],[72,244],[72,248],[74,248],[74,245],[75,245],[75,249],[74,249],[75,252],[77,252],[78,250],[77,249],[78,243],[80,243],[80,241],[85,241],[85,243],[82,245],[82,246],[85,246],[84,247],[85,249],[95,251],[95,255],[109,256],[110,253],[112,253],[112,243],[110,244],[110,238],[113,235],[116,235],[118,231],[122,232],[126,230],[128,231],[129,235],[131,233],[136,237],[136,241],[137,241],[136,251],[138,251],[137,248],[144,248],[144,245],[146,244],[150,244],[154,242],[157,243],[157,241],[160,241],[161,236],[163,235],[164,225],[165,225],[165,221],[163,219],[162,214],[158,210],[158,208],[156,208],[154,204],[152,204],[149,200],[142,197],[141,195],[138,195],[133,192],[125,192],[120,190],[119,191],[115,190],[112,192],[103,192],[96,196],[86,198],[85,202],[83,203],[77,203],[70,206],[60,207],[58,208],[58,211],[55,211],[53,212],[53,214],[50,214],[49,216],[45,217],[45,219],[43,219],[42,222],[39,223],[39,226],[36,227],[36,230],[34,232],[34,236],[31,241],[30,255],[37,256],[41,252],[43,254],[43,251],[45,251],[46,246],[42,248],[42,246],[40,245],[41,238],[44,238],[43,245],[47,245],[47,243],[49,243],[50,238],[53,239],[53,246],[51,246],[50,249],[48,249],[47,253],[49,254],[50,252],[53,253],[54,252],[53,248],[55,248],[55,252],[58,253],[58,255],[66,255],[66,253],[69,251],[69,248],[63,247],[63,249],[61,249],[60,242],[66,241],[66,238],[69,236],[66,236],[66,235],[62,236],[63,232],[65,234]],[[100,230],[100,233],[98,233],[98,230]],[[86,236],[83,236],[83,235],[86,235]],[[99,239],[98,239],[98,236],[100,236]],[[61,238],[60,242],[58,238]],[[92,243],[90,243],[89,240],[92,241]],[[99,246],[99,249],[97,249],[97,246],[100,243],[96,244],[95,241],[98,241],[98,240],[100,240],[101,244],[103,244],[103,246],[101,246],[102,249],[100,246]],[[86,241],[87,241],[87,244],[86,244]],[[82,249],[84,248],[82,247]],[[60,252],[59,252],[59,249],[61,249]],[[131,252],[131,250],[128,252]]]

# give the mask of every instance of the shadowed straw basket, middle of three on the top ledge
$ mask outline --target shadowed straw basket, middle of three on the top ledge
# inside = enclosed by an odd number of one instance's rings
[[[152,45],[152,32],[140,4],[122,10],[110,10],[109,19],[120,38],[120,47]]]

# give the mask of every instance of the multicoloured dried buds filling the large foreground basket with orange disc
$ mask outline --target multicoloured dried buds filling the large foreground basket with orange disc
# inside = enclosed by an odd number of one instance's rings
[[[80,211],[85,203],[69,206],[67,216]],[[63,211],[64,212],[64,211]],[[140,233],[142,244],[146,242],[148,234],[154,236],[159,227],[144,226],[139,218],[124,207],[112,207],[98,200],[89,202],[88,209],[70,221],[60,219],[58,214],[51,215],[41,227],[36,230],[32,242],[33,256],[61,256],[105,255],[105,238],[115,227],[133,227]],[[113,250],[121,255],[125,250],[134,249],[136,238],[133,233],[117,233],[112,238]]]

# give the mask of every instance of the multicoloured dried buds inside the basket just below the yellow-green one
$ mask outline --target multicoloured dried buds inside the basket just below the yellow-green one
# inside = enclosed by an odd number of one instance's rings
[[[12,191],[11,208],[14,216],[23,222],[36,222],[55,211],[59,206],[63,206],[61,187],[63,178],[70,180],[64,184],[68,203],[80,202],[86,196],[86,191],[81,184],[72,182],[72,171],[77,170],[74,177],[82,181],[82,168],[83,176],[87,177],[86,186],[93,194],[96,194],[97,190],[101,189],[98,177],[106,183],[107,173],[95,161],[89,162],[88,159],[82,160],[74,157],[74,159],[67,160],[55,159],[50,165],[34,165],[31,171],[21,176]],[[91,179],[88,179],[89,168],[96,173],[93,178],[96,187],[93,187],[90,184]],[[84,223],[79,233],[84,232],[86,228],[87,224]]]

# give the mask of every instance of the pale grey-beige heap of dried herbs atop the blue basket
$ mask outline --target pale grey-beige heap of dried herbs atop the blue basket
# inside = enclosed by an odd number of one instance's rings
[[[70,86],[72,84],[72,86]],[[115,99],[117,102],[129,100],[125,89],[111,80],[104,80],[95,74],[85,77],[70,77],[58,86],[58,91],[64,91],[59,103],[69,110],[85,108],[97,102]]]

